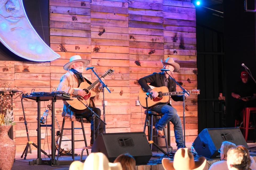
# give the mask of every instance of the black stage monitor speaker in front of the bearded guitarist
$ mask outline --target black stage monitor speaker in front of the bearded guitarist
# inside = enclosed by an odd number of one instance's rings
[[[103,133],[96,138],[91,152],[102,152],[109,162],[114,162],[121,154],[129,153],[136,165],[146,165],[152,152],[144,132]]]

